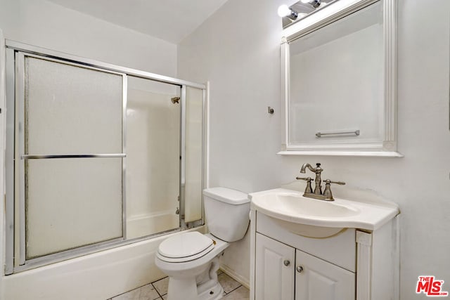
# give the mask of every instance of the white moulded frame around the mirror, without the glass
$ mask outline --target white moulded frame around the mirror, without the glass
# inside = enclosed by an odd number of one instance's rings
[[[383,1],[384,138],[380,143],[292,145],[289,141],[290,55],[289,43],[329,25],[361,8]],[[279,155],[340,155],[403,157],[397,152],[397,0],[339,0],[283,30],[281,39],[281,82],[285,109],[285,132]]]

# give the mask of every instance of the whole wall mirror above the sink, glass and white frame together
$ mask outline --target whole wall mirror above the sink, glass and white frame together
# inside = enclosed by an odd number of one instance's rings
[[[394,0],[338,0],[283,33],[279,154],[401,157]]]

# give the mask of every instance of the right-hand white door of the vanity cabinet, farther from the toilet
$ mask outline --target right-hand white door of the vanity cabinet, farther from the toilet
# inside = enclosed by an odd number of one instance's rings
[[[295,300],[354,300],[355,274],[296,250]]]

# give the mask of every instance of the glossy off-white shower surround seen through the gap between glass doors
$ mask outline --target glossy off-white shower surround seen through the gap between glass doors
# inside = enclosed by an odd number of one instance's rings
[[[179,90],[128,77],[127,238],[179,227],[181,111],[171,101]]]

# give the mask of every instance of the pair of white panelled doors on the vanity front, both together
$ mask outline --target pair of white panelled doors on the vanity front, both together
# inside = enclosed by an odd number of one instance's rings
[[[255,299],[315,300],[355,296],[355,273],[256,234]]]

